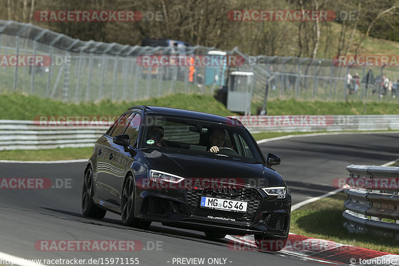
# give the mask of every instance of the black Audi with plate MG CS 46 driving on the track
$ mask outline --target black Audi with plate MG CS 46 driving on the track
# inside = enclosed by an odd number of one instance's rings
[[[288,238],[291,194],[235,119],[135,106],[96,142],[84,171],[82,212],[148,228],[151,222],[198,230],[209,238],[253,234]],[[281,250],[282,246],[276,247]]]

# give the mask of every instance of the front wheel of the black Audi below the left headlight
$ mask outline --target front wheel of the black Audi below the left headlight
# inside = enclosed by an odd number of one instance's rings
[[[131,175],[126,178],[122,190],[121,219],[122,224],[141,229],[147,229],[151,225],[151,221],[141,221],[134,217],[134,181]]]

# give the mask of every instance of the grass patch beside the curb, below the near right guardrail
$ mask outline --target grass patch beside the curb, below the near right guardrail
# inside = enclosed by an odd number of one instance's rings
[[[371,250],[399,254],[399,241],[369,234],[349,233],[343,226],[344,192],[307,204],[291,213],[290,233],[331,240]]]

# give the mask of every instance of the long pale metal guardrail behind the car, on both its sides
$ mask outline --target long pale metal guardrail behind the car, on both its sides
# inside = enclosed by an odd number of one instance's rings
[[[399,130],[399,115],[370,116],[246,116],[251,133]],[[270,119],[269,119],[270,118]],[[318,121],[322,123],[313,123]],[[301,123],[303,121],[304,123]],[[37,126],[33,121],[0,120],[0,150],[88,147],[107,126]]]

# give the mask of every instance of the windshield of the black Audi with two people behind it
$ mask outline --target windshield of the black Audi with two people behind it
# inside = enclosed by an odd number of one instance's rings
[[[244,128],[195,119],[147,116],[139,146],[263,161],[256,143]],[[212,146],[216,146],[218,152],[210,151]]]

